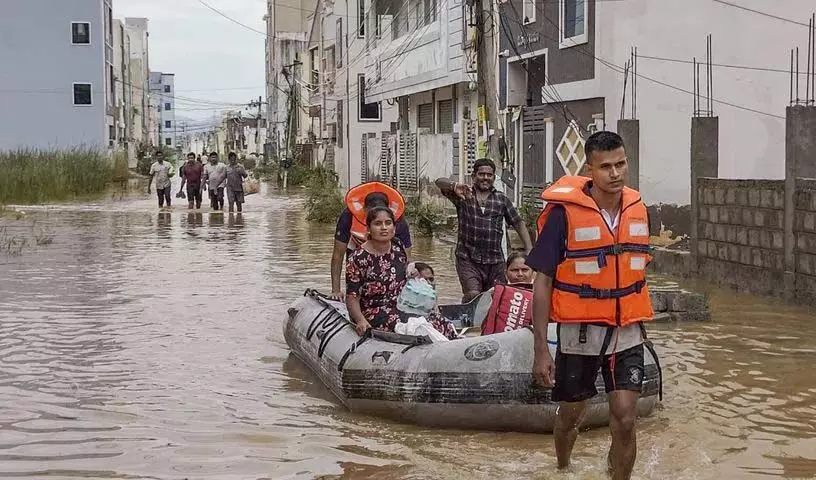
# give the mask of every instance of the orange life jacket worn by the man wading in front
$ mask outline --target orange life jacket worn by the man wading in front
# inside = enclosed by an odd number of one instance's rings
[[[589,180],[565,176],[541,194],[547,206],[538,218],[539,231],[554,205],[564,207],[567,219],[567,248],[553,279],[550,317],[561,323],[609,326],[651,320],[646,206],[637,190],[624,187],[613,232],[598,205],[584,193]]]

